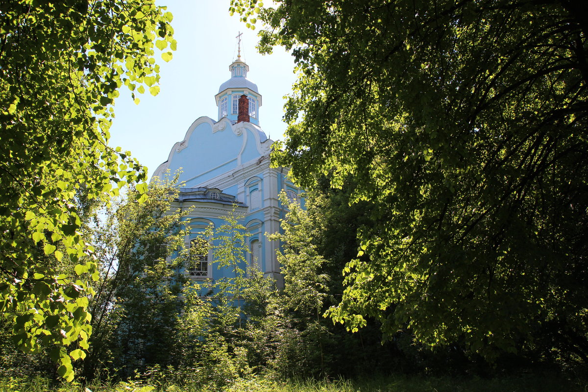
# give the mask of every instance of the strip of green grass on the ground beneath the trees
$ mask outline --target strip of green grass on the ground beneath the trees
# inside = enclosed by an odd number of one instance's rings
[[[149,380],[115,385],[92,384],[92,392],[588,392],[587,384],[549,375],[521,377],[427,377],[390,376],[371,380],[277,381],[269,378],[238,380],[223,390],[194,385],[164,384],[159,388]],[[5,378],[0,380],[0,392],[84,392],[79,384],[51,386],[45,378]],[[87,390],[86,390],[87,392]]]

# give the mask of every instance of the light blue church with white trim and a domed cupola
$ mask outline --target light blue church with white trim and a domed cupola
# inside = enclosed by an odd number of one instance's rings
[[[287,169],[269,165],[273,140],[260,128],[262,95],[247,78],[249,66],[241,60],[240,53],[229,72],[230,78],[215,95],[218,120],[208,116],[196,119],[153,177],[162,177],[168,170],[181,171],[182,187],[172,207],[191,209],[185,218],[189,229],[186,245],[191,247],[192,258],[185,271],[189,278],[211,282],[230,277],[228,270],[213,263],[212,250],[203,246],[203,232],[211,225],[223,225],[223,217],[236,206],[239,223],[248,233],[248,263],[281,286],[283,279],[276,257],[279,244],[269,241],[266,233],[278,232],[280,220],[285,217],[285,206],[278,194],[283,190],[290,201],[299,200],[300,189],[286,177]]]

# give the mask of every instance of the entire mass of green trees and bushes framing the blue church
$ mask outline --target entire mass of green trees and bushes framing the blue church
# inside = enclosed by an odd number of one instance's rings
[[[118,89],[158,92],[171,14],[0,2],[0,390],[585,391],[579,3],[232,4],[299,72],[283,289],[234,213],[200,244],[230,278],[186,279],[175,181],[107,146]]]

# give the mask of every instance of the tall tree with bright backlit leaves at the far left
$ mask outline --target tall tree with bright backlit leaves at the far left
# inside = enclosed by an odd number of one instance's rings
[[[98,274],[79,262],[92,249],[76,192],[83,184],[85,199],[103,202],[145,179],[129,152],[108,147],[108,128],[122,85],[133,98],[159,91],[153,44],[175,50],[172,15],[137,0],[3,1],[0,10],[0,307],[17,346],[48,346],[71,380],[91,333],[85,277]]]

